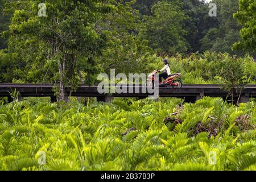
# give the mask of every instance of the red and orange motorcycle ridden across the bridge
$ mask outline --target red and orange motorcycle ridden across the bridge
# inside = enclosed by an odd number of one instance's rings
[[[155,74],[158,73],[158,71],[154,70],[150,73],[150,75],[148,75],[148,86],[155,86]],[[162,82],[162,80],[160,80],[159,83],[159,87],[167,87],[167,86],[171,86],[172,88],[181,88],[182,87],[182,81],[180,80],[180,75],[181,73],[175,73],[172,75],[169,75],[166,80],[164,80]],[[146,82],[146,86],[147,86],[147,82]]]

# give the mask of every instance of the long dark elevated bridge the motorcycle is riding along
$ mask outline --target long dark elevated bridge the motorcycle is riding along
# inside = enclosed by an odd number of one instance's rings
[[[16,90],[19,92],[19,100],[22,97],[50,97],[52,102],[56,101],[53,92],[53,84],[0,84],[0,97],[8,97],[8,101],[13,101],[11,93]],[[142,92],[144,87],[135,85],[133,87],[126,86],[125,93],[100,94],[97,86],[81,85],[71,92],[71,88],[65,88],[65,98],[71,94],[72,97],[97,97],[97,101],[108,102],[114,97],[138,97],[146,98],[152,94]],[[129,93],[129,89],[134,90]],[[138,89],[139,92],[135,92]],[[184,98],[187,102],[195,102],[201,97],[222,97],[226,99],[228,92],[222,89],[220,85],[184,85],[183,88],[159,88],[159,97],[176,97]],[[247,102],[250,98],[256,98],[256,85],[247,85],[241,92],[240,101]]]

